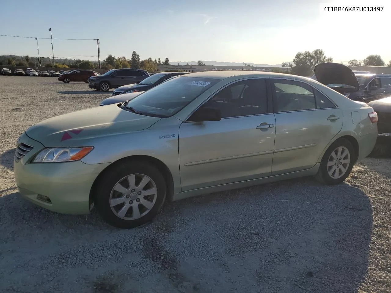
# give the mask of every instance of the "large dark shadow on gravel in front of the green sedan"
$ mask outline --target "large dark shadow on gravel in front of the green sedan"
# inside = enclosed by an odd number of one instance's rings
[[[331,293],[357,292],[365,280],[372,209],[349,184],[295,179],[167,202],[153,222],[130,230],[96,213],[52,213],[15,192],[0,197],[0,223],[0,248],[15,251],[4,269],[18,250],[30,263],[14,273],[39,272],[39,259],[53,278],[70,269],[69,284],[80,275],[132,276],[118,280],[124,291],[153,291],[159,280],[165,292]]]

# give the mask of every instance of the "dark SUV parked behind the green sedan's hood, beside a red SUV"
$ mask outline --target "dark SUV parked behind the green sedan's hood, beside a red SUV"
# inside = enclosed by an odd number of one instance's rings
[[[127,84],[135,84],[149,77],[149,73],[141,69],[112,69],[103,75],[91,76],[88,79],[88,86],[91,89],[108,91],[112,88],[119,88]]]

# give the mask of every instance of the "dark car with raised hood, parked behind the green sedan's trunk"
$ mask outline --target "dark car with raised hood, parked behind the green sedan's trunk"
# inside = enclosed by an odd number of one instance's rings
[[[316,79],[353,101],[370,102],[391,95],[391,74],[357,73],[339,63],[315,66]]]

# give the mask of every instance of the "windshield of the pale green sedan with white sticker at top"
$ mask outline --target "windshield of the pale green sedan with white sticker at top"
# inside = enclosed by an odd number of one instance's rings
[[[219,81],[180,76],[145,91],[129,101],[127,107],[147,116],[170,117]]]

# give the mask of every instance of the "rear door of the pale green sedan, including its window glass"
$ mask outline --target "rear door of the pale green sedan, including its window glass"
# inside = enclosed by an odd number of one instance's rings
[[[272,79],[276,139],[272,175],[306,170],[341,130],[342,111],[307,83]]]

